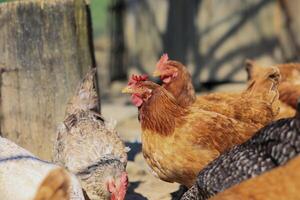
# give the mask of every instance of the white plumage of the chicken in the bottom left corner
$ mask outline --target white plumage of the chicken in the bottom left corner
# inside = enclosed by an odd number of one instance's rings
[[[34,199],[42,181],[52,170],[56,169],[60,168],[40,160],[13,142],[0,138],[0,199]],[[70,193],[68,194],[70,199],[83,200],[82,190],[75,176],[69,173],[64,173],[64,175],[71,180],[71,188],[67,191]]]

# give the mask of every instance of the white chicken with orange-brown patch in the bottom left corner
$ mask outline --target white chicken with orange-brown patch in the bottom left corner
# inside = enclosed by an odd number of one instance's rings
[[[0,185],[5,200],[84,200],[74,175],[2,137]]]

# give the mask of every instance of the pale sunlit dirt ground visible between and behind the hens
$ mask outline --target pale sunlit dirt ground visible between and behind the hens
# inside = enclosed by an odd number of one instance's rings
[[[239,91],[244,85],[222,85],[215,91]],[[102,100],[102,114],[117,121],[117,130],[126,145],[131,148],[128,155],[127,171],[129,189],[126,200],[170,200],[171,193],[178,190],[176,183],[167,183],[154,177],[141,153],[141,130],[137,119],[137,108],[131,105],[129,97],[120,95],[121,88],[114,88],[116,94],[111,100]]]

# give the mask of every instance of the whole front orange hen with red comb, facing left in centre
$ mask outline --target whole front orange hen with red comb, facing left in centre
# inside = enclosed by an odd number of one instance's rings
[[[270,90],[275,100],[276,87]],[[192,186],[203,167],[257,130],[251,123],[194,104],[180,106],[171,93],[146,76],[132,76],[122,92],[131,94],[132,103],[139,108],[144,158],[164,181]]]

